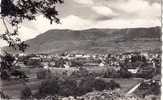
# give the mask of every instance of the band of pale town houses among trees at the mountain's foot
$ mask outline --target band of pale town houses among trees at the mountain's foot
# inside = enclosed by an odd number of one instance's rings
[[[33,65],[37,67],[39,64],[43,68],[70,68],[70,67],[110,67],[115,70],[120,70],[122,67],[133,74],[140,71],[142,68],[156,69],[161,67],[161,57],[159,54],[148,54],[141,52],[127,52],[121,54],[71,54],[63,53],[62,55],[48,55],[48,54],[19,54],[16,57],[24,58],[22,61],[27,63],[36,63]],[[33,62],[33,63],[32,63]],[[28,65],[28,64],[27,64]]]

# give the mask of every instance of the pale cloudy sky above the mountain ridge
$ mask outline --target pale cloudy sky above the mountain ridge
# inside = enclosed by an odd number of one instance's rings
[[[1,1],[1,0],[0,0]],[[64,0],[57,5],[61,24],[50,24],[42,15],[24,21],[19,37],[28,40],[49,29],[135,28],[161,25],[161,0]],[[0,33],[4,26],[0,20]],[[0,40],[0,47],[6,43]]]

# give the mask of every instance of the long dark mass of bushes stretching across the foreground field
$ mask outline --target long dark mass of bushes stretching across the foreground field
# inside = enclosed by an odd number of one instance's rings
[[[105,82],[94,77],[63,77],[43,82],[39,88],[38,96],[45,97],[48,95],[59,96],[82,96],[94,89],[102,91],[104,89],[119,88],[119,84],[114,81]]]

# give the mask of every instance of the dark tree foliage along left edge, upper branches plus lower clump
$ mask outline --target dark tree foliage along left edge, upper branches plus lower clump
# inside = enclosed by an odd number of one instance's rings
[[[6,41],[9,47],[24,52],[28,45],[18,37],[18,25],[24,20],[36,20],[41,14],[49,19],[51,24],[53,21],[60,23],[56,4],[61,3],[63,0],[1,0],[0,19],[6,30],[0,33],[0,39]],[[11,75],[26,77],[25,73],[15,69],[15,58],[11,54],[6,53],[1,60],[1,78],[8,79]]]

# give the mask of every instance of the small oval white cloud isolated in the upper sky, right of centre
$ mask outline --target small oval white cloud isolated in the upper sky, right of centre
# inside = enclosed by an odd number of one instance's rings
[[[105,7],[105,6],[94,6],[92,7],[92,9],[100,15],[103,16],[116,16],[117,13],[113,12],[112,9],[110,9],[109,7]]]

